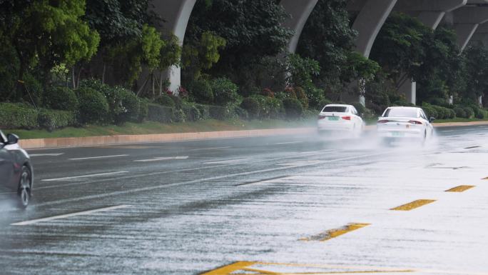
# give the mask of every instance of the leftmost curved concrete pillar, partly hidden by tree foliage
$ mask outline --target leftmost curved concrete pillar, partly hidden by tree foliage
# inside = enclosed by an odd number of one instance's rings
[[[188,19],[190,19],[191,11],[195,5],[196,0],[152,0],[153,11],[161,16],[163,21],[161,32],[172,33],[178,36],[180,45],[183,46],[185,39],[186,26]],[[181,68],[172,66],[167,71],[163,72],[171,81],[169,87],[171,91],[177,91],[181,85]]]

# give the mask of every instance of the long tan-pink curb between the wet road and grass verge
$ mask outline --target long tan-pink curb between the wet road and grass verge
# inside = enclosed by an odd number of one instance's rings
[[[434,123],[438,127],[454,126],[482,126],[487,125],[488,121],[472,122],[448,122]],[[375,129],[375,125],[366,126],[366,130]],[[169,141],[191,141],[204,139],[230,139],[240,137],[257,137],[257,136],[286,136],[286,135],[306,135],[315,134],[315,127],[303,128],[285,128],[285,129],[258,129],[258,130],[240,130],[240,131],[206,131],[193,133],[176,133],[176,134],[145,134],[145,135],[116,135],[116,136],[85,136],[58,139],[21,139],[19,144],[24,149],[45,149],[59,147],[81,147],[81,146],[103,146],[113,144],[138,144],[151,142],[169,142]]]

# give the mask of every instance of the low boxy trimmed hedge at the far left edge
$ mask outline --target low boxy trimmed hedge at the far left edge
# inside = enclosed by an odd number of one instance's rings
[[[0,103],[0,129],[34,129],[38,112],[26,104]]]

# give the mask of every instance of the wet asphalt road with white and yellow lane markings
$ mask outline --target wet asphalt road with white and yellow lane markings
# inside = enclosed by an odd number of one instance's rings
[[[280,136],[29,154],[29,209],[0,194],[0,274],[488,274],[488,126],[424,147]]]

